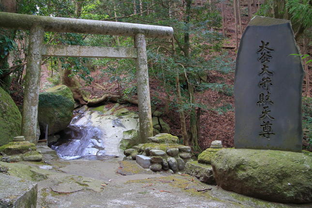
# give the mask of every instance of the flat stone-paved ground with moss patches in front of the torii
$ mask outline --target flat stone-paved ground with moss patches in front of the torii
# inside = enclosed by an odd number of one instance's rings
[[[0,162],[1,172],[38,183],[37,208],[308,208],[222,190],[183,173],[154,173],[135,161],[59,159],[45,147],[43,162]],[[7,168],[5,168],[7,167]],[[45,168],[45,169],[42,169]]]

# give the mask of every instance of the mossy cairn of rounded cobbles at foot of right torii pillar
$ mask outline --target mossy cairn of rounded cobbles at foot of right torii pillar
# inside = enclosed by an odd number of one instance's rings
[[[178,144],[178,137],[171,134],[157,134],[148,138],[149,143],[126,149],[125,160],[136,160],[143,168],[154,172],[169,170],[177,172],[185,168],[191,159],[191,148]]]

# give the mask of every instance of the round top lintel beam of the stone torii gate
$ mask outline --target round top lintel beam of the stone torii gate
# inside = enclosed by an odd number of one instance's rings
[[[55,32],[120,36],[141,33],[147,38],[171,38],[173,35],[173,28],[164,26],[0,12],[2,28],[30,30],[35,25],[43,27],[45,31]]]

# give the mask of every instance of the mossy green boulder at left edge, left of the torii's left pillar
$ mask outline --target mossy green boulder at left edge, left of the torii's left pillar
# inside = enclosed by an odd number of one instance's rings
[[[0,88],[0,146],[21,133],[22,116],[11,96]]]

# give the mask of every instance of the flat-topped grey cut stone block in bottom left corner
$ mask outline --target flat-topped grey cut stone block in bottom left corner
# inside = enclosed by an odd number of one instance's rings
[[[36,183],[0,174],[0,187],[1,208],[36,208]]]

